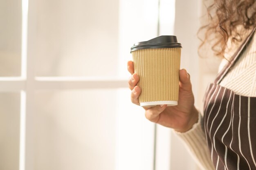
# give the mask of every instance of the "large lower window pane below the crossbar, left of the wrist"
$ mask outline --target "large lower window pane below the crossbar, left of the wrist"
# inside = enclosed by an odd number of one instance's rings
[[[34,169],[153,170],[153,123],[129,95],[127,89],[37,92]]]

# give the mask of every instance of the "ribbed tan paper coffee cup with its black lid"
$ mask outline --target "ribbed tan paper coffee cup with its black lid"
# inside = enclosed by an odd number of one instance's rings
[[[177,105],[181,48],[175,36],[159,36],[131,48],[141,106]]]

